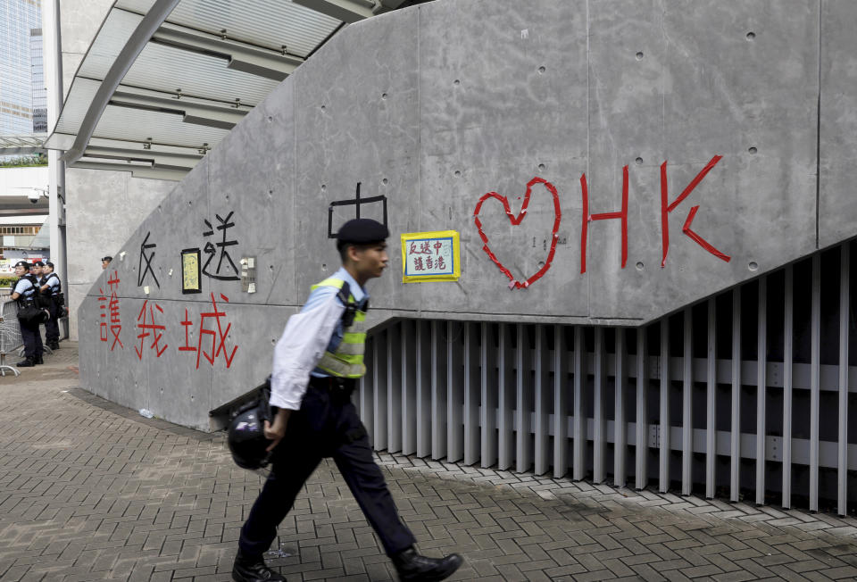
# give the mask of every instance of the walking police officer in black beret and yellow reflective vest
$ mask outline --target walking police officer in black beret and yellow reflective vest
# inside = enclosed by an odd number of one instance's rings
[[[285,580],[262,559],[295,496],[323,457],[332,457],[402,580],[442,580],[462,564],[418,554],[411,530],[395,509],[351,393],[365,373],[363,343],[369,294],[363,288],[387,267],[387,227],[349,220],[339,229],[342,268],[312,287],[300,313],[289,318],[274,348],[270,404],[265,421],[270,476],[241,528],[232,569],[237,582]]]

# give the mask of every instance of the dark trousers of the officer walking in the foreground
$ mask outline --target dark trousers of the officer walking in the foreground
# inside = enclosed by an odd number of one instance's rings
[[[415,543],[411,530],[399,519],[350,395],[350,387],[336,387],[332,378],[312,378],[301,409],[292,412],[286,436],[274,449],[262,493],[241,528],[238,547],[245,556],[261,556],[268,550],[277,526],[323,457],[333,457],[337,463],[387,555]]]

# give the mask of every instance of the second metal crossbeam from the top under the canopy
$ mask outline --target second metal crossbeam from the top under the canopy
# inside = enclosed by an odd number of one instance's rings
[[[229,69],[277,81],[286,79],[304,62],[304,59],[291,54],[280,54],[175,24],[162,25],[152,40],[195,53],[220,56],[229,61]]]

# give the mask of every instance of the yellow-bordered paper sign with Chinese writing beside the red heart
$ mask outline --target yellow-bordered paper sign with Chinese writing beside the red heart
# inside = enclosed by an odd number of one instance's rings
[[[405,283],[457,281],[462,274],[458,232],[409,232],[402,235],[402,280]]]

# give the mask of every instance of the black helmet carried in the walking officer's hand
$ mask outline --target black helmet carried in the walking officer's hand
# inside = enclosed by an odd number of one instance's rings
[[[270,420],[270,388],[263,386],[259,397],[242,406],[229,421],[229,452],[232,460],[242,469],[262,469],[270,461],[265,449],[270,440],[265,438],[265,420]]]

